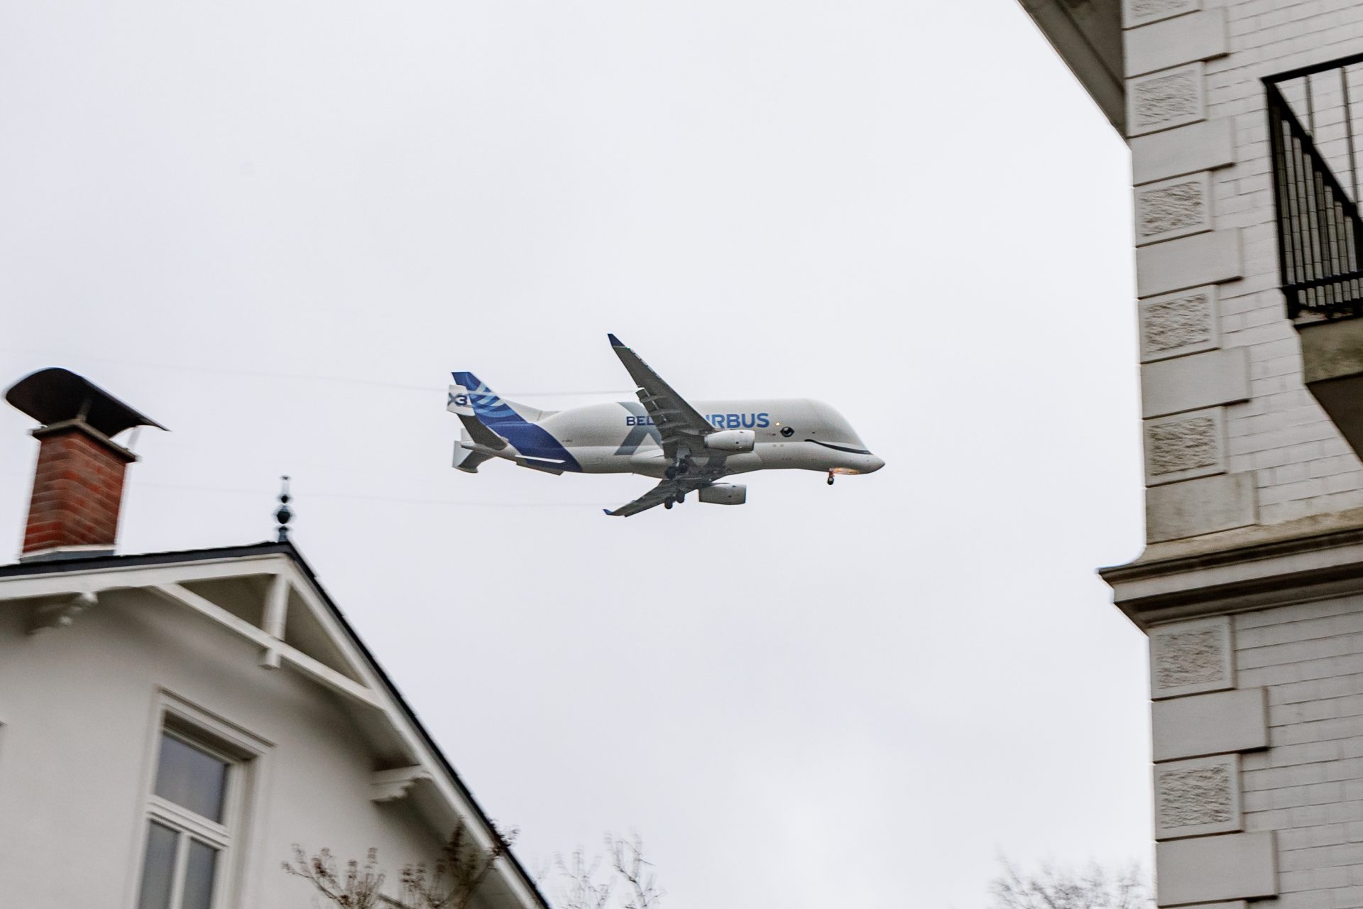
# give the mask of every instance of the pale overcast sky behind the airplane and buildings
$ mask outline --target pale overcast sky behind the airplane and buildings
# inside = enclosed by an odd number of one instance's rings
[[[0,383],[170,428],[123,552],[264,540],[293,474],[527,865],[634,827],[676,909],[980,908],[999,854],[1149,854],[1145,639],[1093,574],[1142,540],[1129,185],[1017,0],[10,0]],[[889,466],[630,519],[652,480],[448,467],[450,369],[611,399],[608,331]]]

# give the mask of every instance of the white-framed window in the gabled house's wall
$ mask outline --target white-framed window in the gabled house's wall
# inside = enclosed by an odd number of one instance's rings
[[[245,767],[243,755],[196,732],[170,722],[161,729],[138,909],[222,902]]]

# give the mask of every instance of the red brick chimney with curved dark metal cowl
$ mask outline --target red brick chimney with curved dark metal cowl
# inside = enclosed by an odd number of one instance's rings
[[[5,401],[44,424],[33,431],[38,465],[20,561],[112,553],[123,473],[138,459],[113,436],[132,427],[165,427],[60,368],[20,379]]]

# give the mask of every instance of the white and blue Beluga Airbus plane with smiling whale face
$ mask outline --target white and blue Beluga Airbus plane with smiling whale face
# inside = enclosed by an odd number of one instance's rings
[[[671,508],[695,491],[701,502],[740,506],[747,487],[721,482],[752,470],[874,473],[871,454],[842,416],[808,398],[698,401],[690,405],[613,334],[611,349],[638,401],[537,410],[500,398],[472,372],[454,372],[446,409],[463,424],[454,466],[477,473],[493,458],[545,473],[637,473],[661,482],[613,511],[630,517]]]

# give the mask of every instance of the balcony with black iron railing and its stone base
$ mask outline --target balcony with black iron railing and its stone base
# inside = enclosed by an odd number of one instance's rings
[[[1363,454],[1363,55],[1264,80],[1278,267],[1307,388]]]

